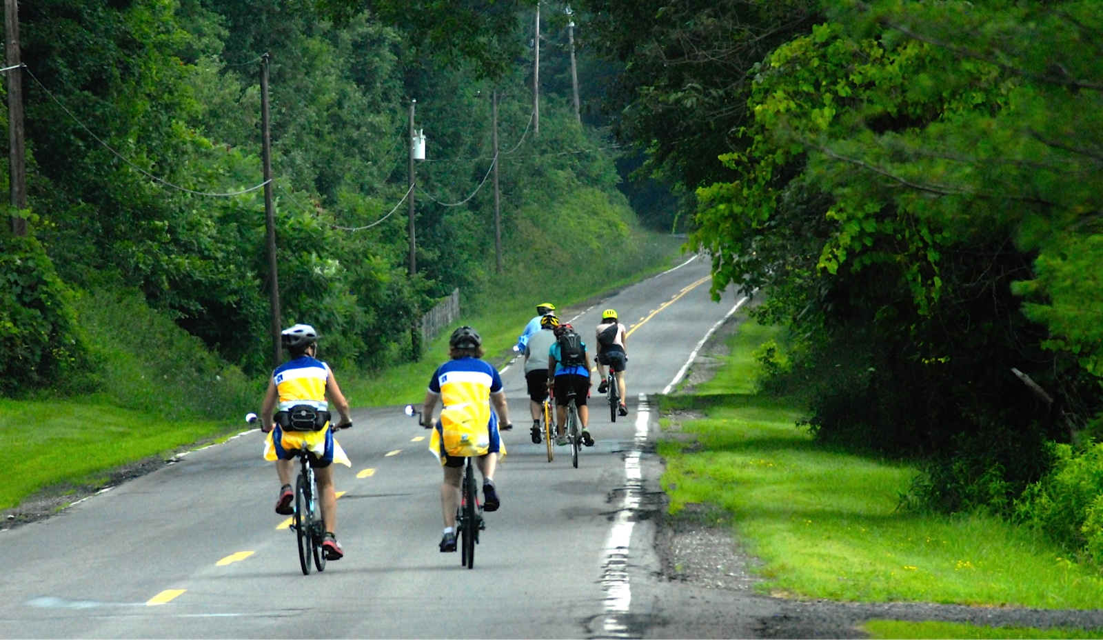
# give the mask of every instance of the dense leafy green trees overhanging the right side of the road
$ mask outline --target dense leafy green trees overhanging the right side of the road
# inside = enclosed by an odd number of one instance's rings
[[[732,180],[698,192],[714,285],[768,288],[818,434],[954,456],[951,508],[1008,504],[1101,405],[1097,74],[1070,45],[1100,13],[1059,4],[838,12],[759,67]]]

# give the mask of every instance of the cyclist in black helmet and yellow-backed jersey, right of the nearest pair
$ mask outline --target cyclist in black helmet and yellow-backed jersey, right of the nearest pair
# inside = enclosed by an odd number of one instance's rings
[[[505,455],[499,436],[499,424],[510,430],[510,409],[497,370],[484,362],[482,339],[471,327],[460,327],[448,341],[450,360],[433,372],[421,409],[422,425],[433,427],[429,450],[445,468],[440,487],[440,508],[445,516],[445,535],[440,551],[456,551],[456,509],[460,504],[460,482],[463,459],[474,457],[483,477],[483,509],[496,511],[501,505],[494,487],[497,458]],[[440,419],[432,420],[437,401],[441,402]],[[492,410],[493,407],[493,410]]]

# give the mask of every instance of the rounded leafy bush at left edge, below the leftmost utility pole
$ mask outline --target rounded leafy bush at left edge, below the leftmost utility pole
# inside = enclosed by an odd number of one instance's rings
[[[0,394],[88,383],[72,291],[34,237],[0,234]]]

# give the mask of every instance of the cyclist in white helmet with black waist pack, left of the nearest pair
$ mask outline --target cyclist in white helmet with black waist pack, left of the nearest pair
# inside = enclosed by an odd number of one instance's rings
[[[333,489],[333,462],[352,466],[341,445],[333,439],[330,428],[330,405],[341,417],[340,425],[351,426],[349,401],[341,393],[330,365],[317,360],[318,332],[309,324],[296,324],[285,329],[280,340],[288,353],[288,361],[276,367],[268,381],[268,392],[260,406],[260,429],[268,434],[265,440],[265,459],[276,461],[280,493],[276,501],[276,513],[290,515],[291,476],[295,472],[295,457],[299,449],[307,449],[310,465],[318,479],[321,495],[322,520],[325,522],[325,537],[322,550],[325,559],[341,559],[344,551],[336,541],[338,499]],[[329,397],[330,402],[326,402]],[[289,430],[289,410],[308,407],[318,415],[315,423],[322,425],[317,431]]]

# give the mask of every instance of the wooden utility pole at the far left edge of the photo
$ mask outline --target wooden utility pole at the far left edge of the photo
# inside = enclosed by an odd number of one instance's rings
[[[23,63],[19,56],[19,2],[4,0],[6,54],[8,64],[8,146],[11,206],[11,232],[26,235],[26,218],[19,212],[26,209],[26,151],[23,147]]]

